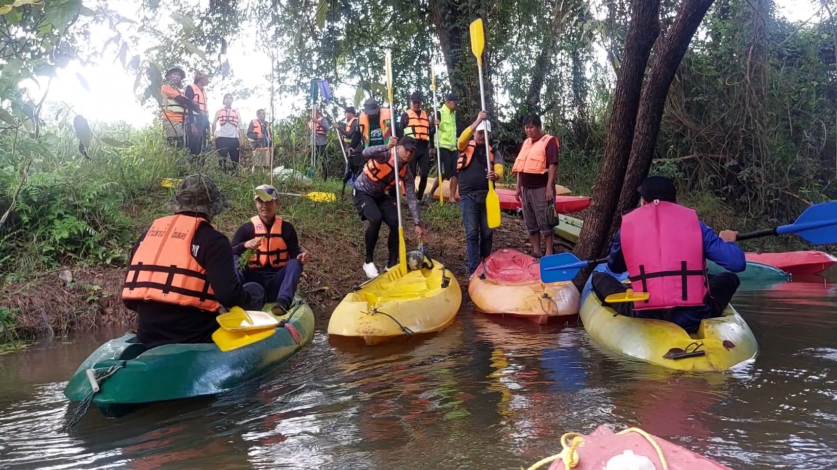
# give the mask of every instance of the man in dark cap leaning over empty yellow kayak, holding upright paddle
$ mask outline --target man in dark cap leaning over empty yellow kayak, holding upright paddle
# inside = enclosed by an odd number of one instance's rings
[[[371,146],[363,151],[364,160],[368,160],[363,166],[363,171],[357,176],[355,189],[352,192],[355,200],[355,208],[361,216],[361,220],[368,220],[369,227],[366,231],[366,261],[363,264],[363,272],[367,278],[377,276],[377,268],[372,262],[372,255],[375,253],[378,232],[381,231],[381,222],[389,227],[387,247],[389,258],[387,268],[398,264],[398,208],[395,206],[396,199],[390,193],[395,187],[395,160],[393,147],[398,155],[398,178],[404,183],[404,190],[407,193],[407,205],[413,214],[413,224],[416,235],[422,238],[424,232],[419,218],[419,202],[416,198],[415,177],[410,171],[408,163],[415,156],[416,141],[409,135],[396,138],[390,137],[386,146]]]

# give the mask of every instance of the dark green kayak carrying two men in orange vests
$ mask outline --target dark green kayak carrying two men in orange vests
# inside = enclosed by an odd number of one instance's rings
[[[270,304],[265,311],[270,311]],[[88,370],[100,384],[92,403],[105,416],[122,416],[154,401],[230,391],[273,370],[311,342],[314,314],[308,304],[295,299],[281,319],[299,334],[299,342],[284,325],[264,340],[229,352],[222,352],[214,343],[162,345],[148,350],[137,342],[136,334],[126,334],[93,351],[70,377],[64,396],[71,401],[90,397]]]

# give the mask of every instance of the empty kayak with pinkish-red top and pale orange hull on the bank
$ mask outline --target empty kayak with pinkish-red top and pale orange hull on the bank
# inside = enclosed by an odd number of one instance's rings
[[[485,258],[468,284],[476,309],[545,324],[551,317],[578,314],[579,294],[572,282],[543,284],[541,266],[531,256],[503,249]]]

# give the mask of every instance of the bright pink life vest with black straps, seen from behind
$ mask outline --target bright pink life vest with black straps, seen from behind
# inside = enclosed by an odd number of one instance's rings
[[[619,235],[634,292],[649,299],[634,309],[703,305],[706,261],[697,213],[672,202],[655,201],[622,217]]]

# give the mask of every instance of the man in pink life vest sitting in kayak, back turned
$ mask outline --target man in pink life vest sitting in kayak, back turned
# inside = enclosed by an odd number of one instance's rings
[[[738,232],[712,232],[694,210],[677,204],[675,183],[665,176],[647,178],[639,195],[639,207],[622,217],[608,268],[627,271],[634,292],[647,292],[649,299],[608,306],[636,318],[665,319],[695,333],[702,319],[720,316],[727,308],[740,284],[734,273],[747,268],[735,243]],[[706,259],[731,273],[707,277]],[[608,273],[593,273],[592,284],[602,302],[627,289]]]

